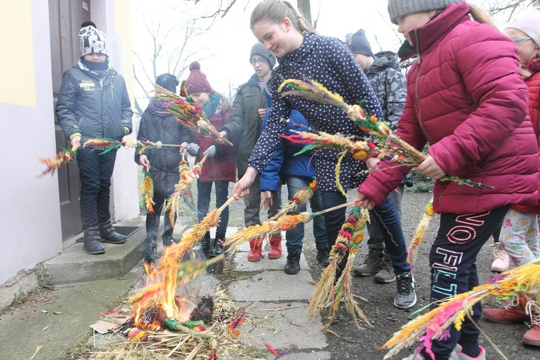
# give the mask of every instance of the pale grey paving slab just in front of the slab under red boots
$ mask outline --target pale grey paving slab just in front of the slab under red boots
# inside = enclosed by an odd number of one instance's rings
[[[315,291],[311,274],[300,270],[296,275],[282,271],[263,271],[231,284],[229,291],[234,301],[308,301]]]

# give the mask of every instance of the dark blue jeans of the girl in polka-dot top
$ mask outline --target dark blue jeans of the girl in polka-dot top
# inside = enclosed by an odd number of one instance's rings
[[[347,201],[339,191],[322,191],[323,208],[328,209],[336,205],[344,204]],[[337,234],[340,231],[342,224],[345,222],[345,208],[340,208],[331,212],[325,213],[326,236],[328,246],[334,246]],[[396,275],[411,270],[407,263],[407,248],[405,246],[405,238],[403,236],[400,218],[397,217],[394,205],[386,198],[384,203],[373,208],[372,213],[377,220],[384,224],[381,228],[383,238],[385,240],[386,251],[392,258],[392,265]],[[344,261],[340,264],[340,269],[343,269]]]

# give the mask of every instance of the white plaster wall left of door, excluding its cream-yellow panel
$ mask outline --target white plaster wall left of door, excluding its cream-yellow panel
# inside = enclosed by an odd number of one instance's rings
[[[37,178],[38,159],[56,155],[49,5],[30,3],[36,106],[0,102],[0,285],[62,251],[58,181]]]

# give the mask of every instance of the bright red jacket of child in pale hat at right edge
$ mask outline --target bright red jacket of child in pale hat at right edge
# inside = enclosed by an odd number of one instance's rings
[[[527,64],[527,70],[532,73],[532,76],[525,80],[529,87],[529,116],[531,116],[532,128],[536,134],[536,140],[540,145],[540,58],[534,58]],[[539,148],[540,155],[540,148]],[[540,173],[540,169],[539,169]],[[532,214],[540,214],[540,181],[538,184],[539,200],[536,206],[514,205],[512,208],[520,212],[529,212]]]

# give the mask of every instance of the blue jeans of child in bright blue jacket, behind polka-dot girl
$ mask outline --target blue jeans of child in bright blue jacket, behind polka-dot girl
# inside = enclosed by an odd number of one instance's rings
[[[294,196],[296,191],[299,191],[301,188],[307,186],[309,181],[310,179],[304,179],[296,176],[289,176],[285,178],[287,191],[289,192],[289,200]],[[306,208],[306,203],[299,204],[298,210],[296,210],[294,213],[298,214],[299,212],[304,212],[306,211]],[[316,190],[311,198],[311,211],[318,212],[320,210],[323,210],[323,199],[320,196],[320,190]],[[313,236],[315,237],[315,245],[317,250],[325,250],[328,248],[324,215],[319,215],[313,219]],[[285,243],[287,246],[287,253],[300,255],[304,241],[304,224],[298,224],[296,227],[294,227],[294,229],[287,231],[285,238],[287,239],[287,242]]]

